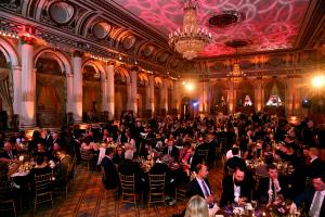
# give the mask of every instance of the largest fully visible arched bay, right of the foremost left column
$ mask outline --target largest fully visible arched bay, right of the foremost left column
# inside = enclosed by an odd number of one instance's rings
[[[60,127],[66,113],[66,68],[54,52],[36,58],[36,123],[40,127]]]

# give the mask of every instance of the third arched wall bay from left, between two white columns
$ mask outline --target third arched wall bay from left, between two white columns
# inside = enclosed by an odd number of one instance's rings
[[[82,69],[82,122],[99,122],[101,111],[101,71],[93,64],[86,64]]]

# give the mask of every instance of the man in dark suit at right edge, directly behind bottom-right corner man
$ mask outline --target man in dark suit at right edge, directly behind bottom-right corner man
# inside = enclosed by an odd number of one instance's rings
[[[309,148],[310,165],[307,168],[308,177],[313,178],[325,170],[325,164],[318,158],[318,149]]]

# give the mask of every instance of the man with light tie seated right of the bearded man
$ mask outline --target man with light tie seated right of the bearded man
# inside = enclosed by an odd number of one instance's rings
[[[260,179],[258,199],[262,203],[272,203],[277,194],[284,194],[285,184],[278,179],[277,168],[274,164],[268,165],[269,177]]]

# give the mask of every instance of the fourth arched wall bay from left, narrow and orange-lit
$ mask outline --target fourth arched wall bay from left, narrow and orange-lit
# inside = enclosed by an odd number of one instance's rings
[[[117,68],[114,74],[114,99],[115,99],[115,119],[120,119],[125,111],[127,111],[128,89],[127,89],[127,72],[125,68]]]

